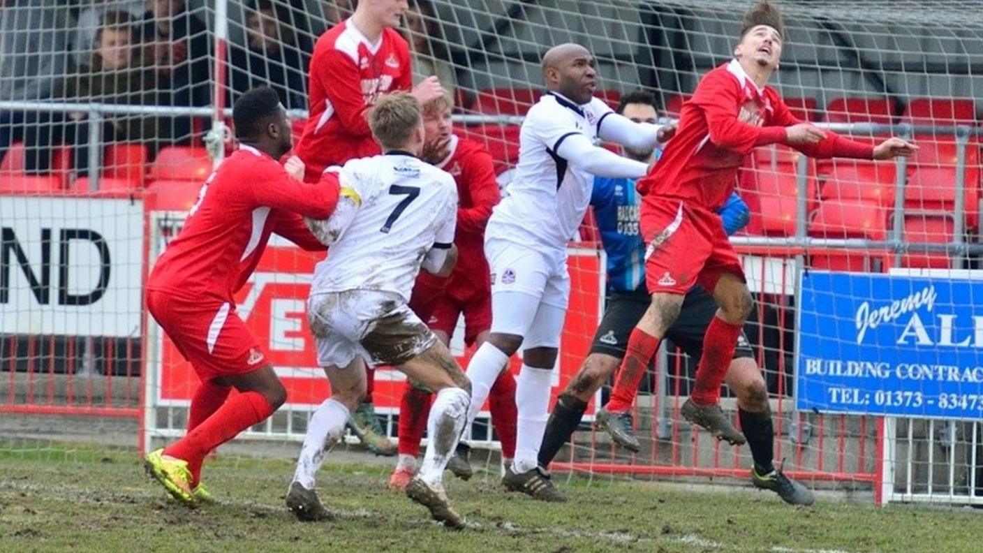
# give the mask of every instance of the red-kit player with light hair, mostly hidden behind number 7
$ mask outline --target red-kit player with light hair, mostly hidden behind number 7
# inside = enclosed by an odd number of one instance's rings
[[[427,323],[434,334],[450,342],[458,318],[464,315],[464,342],[481,345],[492,328],[492,282],[485,259],[485,225],[498,203],[492,155],[480,144],[454,135],[450,114],[453,102],[441,96],[424,106],[427,144],[422,154],[454,177],[459,206],[457,231],[457,265],[447,278],[421,273],[413,289],[410,307]],[[430,411],[432,394],[406,382],[399,404],[399,461],[389,477],[389,488],[401,490],[413,478],[420,455]],[[515,455],[515,377],[502,371],[489,396],[492,423],[501,442],[502,462]],[[468,479],[473,474],[468,455],[470,448],[460,443],[447,469]]]

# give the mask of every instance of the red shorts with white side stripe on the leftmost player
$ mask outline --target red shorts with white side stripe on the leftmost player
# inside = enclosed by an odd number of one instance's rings
[[[248,374],[267,364],[234,303],[192,301],[147,290],[146,308],[202,381]]]

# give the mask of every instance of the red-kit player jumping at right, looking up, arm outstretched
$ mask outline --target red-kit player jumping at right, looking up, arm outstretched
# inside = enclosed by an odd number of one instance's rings
[[[768,86],[784,42],[778,8],[767,0],[744,16],[734,59],[700,81],[679,116],[660,161],[638,183],[648,242],[645,275],[652,303],[628,339],[607,410],[628,409],[645,367],[699,283],[719,310],[704,338],[696,383],[681,413],[731,444],[744,436],[718,404],[721,384],[753,300],[741,263],[723,232],[718,209],[733,192],[737,170],[759,146],[782,144],[812,157],[890,159],[916,147],[890,138],[877,146],[840,137],[796,119]]]

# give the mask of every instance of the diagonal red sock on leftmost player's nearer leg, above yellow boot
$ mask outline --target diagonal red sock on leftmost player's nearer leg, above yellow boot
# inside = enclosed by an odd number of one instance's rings
[[[194,474],[194,467],[201,471],[202,461],[208,452],[235,438],[243,430],[259,424],[271,414],[273,407],[259,392],[236,394],[184,438],[164,449],[164,455],[188,461]],[[196,485],[197,477],[192,481],[192,486]]]

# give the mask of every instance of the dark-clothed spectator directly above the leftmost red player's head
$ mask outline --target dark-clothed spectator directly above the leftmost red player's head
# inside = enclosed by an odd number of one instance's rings
[[[232,46],[229,53],[232,101],[260,86],[268,86],[288,109],[305,109],[304,54],[301,37],[306,29],[292,17],[292,8],[272,0],[250,3],[246,19],[247,46]]]

